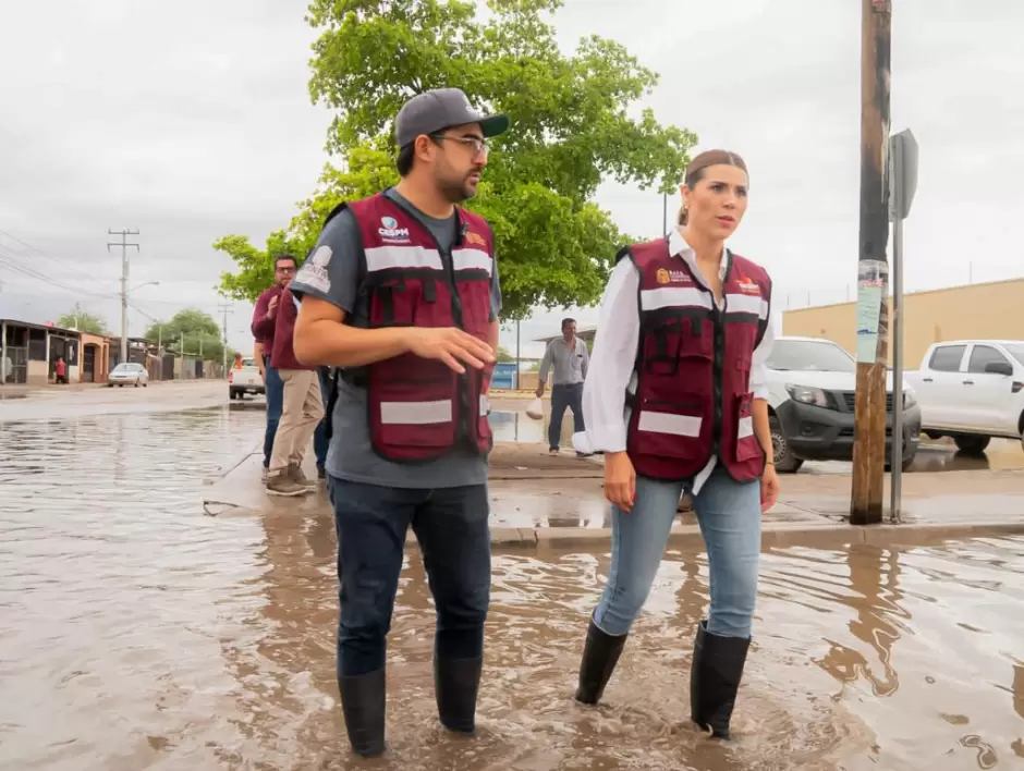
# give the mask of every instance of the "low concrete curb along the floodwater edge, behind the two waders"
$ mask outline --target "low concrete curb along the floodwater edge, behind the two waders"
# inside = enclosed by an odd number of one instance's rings
[[[962,540],[984,536],[1024,534],[1024,521],[974,522],[961,524],[846,525],[837,523],[779,525],[763,530],[761,548],[806,546],[843,547],[865,543],[877,547],[921,546],[923,542]],[[412,533],[406,546],[416,546]],[[611,530],[600,527],[492,527],[491,546],[537,550],[570,547],[611,546]],[[674,525],[669,547],[704,550],[704,539],[696,525]]]

